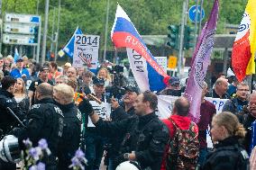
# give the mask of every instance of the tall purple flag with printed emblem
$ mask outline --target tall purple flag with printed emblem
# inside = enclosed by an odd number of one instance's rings
[[[214,48],[214,38],[219,12],[219,1],[215,0],[212,12],[206,22],[197,42],[197,47],[193,53],[191,62],[191,72],[188,77],[187,87],[184,96],[190,102],[188,116],[192,121],[198,122],[200,119],[201,95],[206,71],[210,64],[212,49]]]

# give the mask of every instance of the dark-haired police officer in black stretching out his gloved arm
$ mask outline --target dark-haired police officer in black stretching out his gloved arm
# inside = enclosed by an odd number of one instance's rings
[[[155,114],[158,104],[155,94],[149,91],[139,94],[134,103],[136,115],[119,122],[103,121],[88,102],[83,104],[98,133],[109,138],[125,134],[119,151],[120,163],[131,160],[139,162],[142,169],[160,169],[169,130]]]

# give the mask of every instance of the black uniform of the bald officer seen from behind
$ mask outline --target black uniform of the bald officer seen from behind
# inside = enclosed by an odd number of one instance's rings
[[[38,145],[40,139],[46,139],[50,148],[50,157],[44,157],[43,162],[46,169],[57,169],[57,150],[59,140],[63,132],[64,116],[59,107],[54,104],[51,98],[44,98],[32,105],[28,114],[26,129],[17,131],[14,135],[19,140],[19,145],[24,148],[23,139],[30,139],[33,146]]]

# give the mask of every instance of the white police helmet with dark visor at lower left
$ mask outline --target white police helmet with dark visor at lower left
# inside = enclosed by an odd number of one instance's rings
[[[7,135],[0,141],[0,158],[11,163],[17,163],[21,160],[19,142],[13,135]]]

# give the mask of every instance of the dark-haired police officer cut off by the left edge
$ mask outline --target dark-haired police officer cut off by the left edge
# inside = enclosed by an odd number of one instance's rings
[[[7,109],[10,108],[18,118],[23,121],[24,114],[19,109],[14,100],[14,91],[16,80],[12,76],[5,76],[2,81],[2,88],[0,88],[0,139],[2,139],[15,125],[17,120]]]

